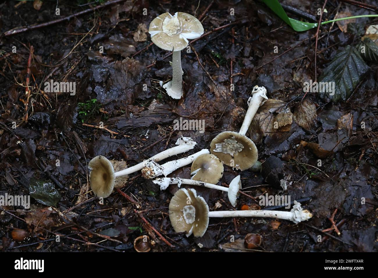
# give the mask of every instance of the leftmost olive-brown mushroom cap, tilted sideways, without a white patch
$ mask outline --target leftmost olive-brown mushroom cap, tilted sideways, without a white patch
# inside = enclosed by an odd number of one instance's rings
[[[115,174],[112,162],[102,155],[91,159],[88,163],[91,189],[98,197],[106,198],[112,194]]]

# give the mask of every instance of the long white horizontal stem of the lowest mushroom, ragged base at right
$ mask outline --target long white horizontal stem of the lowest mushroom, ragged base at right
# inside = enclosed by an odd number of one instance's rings
[[[295,224],[308,220],[312,214],[308,210],[301,208],[301,203],[294,201],[291,211],[279,210],[234,210],[234,211],[209,211],[209,217],[272,217],[285,219]]]

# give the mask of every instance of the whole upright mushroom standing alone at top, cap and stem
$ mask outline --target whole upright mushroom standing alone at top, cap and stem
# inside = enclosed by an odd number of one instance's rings
[[[181,68],[181,50],[189,44],[188,39],[196,39],[203,34],[201,22],[190,14],[176,12],[172,16],[165,12],[150,23],[148,32],[156,46],[173,51],[172,81],[163,85],[168,95],[180,99],[183,95],[183,71]]]

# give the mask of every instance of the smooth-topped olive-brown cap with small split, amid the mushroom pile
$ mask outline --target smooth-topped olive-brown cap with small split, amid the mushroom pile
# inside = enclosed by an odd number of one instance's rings
[[[223,176],[223,163],[214,154],[202,154],[192,163],[192,180],[217,184]]]

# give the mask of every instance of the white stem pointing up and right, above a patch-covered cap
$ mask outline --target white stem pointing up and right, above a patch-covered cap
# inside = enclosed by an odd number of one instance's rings
[[[256,85],[255,87],[253,87],[252,93],[253,96],[248,99],[248,110],[245,114],[242,127],[239,131],[239,133],[243,135],[246,134],[253,117],[256,115],[257,109],[259,109],[260,105],[265,103],[265,101],[268,99],[268,97],[266,96],[265,87],[259,87]]]

